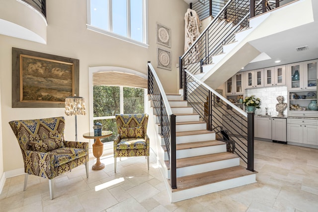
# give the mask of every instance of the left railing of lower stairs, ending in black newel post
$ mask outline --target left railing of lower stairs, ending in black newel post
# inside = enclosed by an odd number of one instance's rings
[[[160,123],[160,134],[167,150],[171,188],[176,189],[176,128],[175,115],[172,114],[168,99],[165,95],[159,77],[148,62],[148,94],[154,104]]]

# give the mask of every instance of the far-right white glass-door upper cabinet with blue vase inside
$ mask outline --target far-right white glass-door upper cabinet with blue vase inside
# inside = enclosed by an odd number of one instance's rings
[[[288,90],[316,90],[317,89],[318,60],[288,64],[286,77]]]

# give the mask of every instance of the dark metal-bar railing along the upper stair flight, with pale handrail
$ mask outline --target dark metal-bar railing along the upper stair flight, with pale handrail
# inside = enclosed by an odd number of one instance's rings
[[[235,33],[249,27],[248,14],[249,0],[229,0],[222,7],[198,39],[179,58],[180,88],[182,69],[195,74],[202,72],[202,65],[213,63],[212,56],[223,53],[222,45],[233,42]]]

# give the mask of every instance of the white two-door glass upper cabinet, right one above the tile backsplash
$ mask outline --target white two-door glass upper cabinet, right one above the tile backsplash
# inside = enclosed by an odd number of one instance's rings
[[[286,66],[264,69],[264,86],[280,86],[286,84]]]

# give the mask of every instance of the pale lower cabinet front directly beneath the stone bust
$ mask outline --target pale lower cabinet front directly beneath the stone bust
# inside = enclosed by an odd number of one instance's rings
[[[286,142],[286,119],[272,118],[272,140]]]

